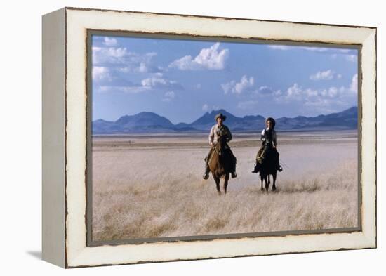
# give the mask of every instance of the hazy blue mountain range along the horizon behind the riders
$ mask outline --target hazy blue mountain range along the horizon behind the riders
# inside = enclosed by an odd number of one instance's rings
[[[215,124],[215,114],[227,116],[225,124],[231,131],[260,131],[265,126],[265,117],[248,115],[236,117],[226,110],[206,112],[190,124],[173,124],[166,117],[153,112],[140,112],[135,115],[125,115],[117,121],[98,119],[93,121],[93,134],[114,133],[185,133],[209,131]],[[337,129],[357,129],[358,108],[351,107],[338,113],[319,115],[317,117],[298,116],[294,118],[281,117],[276,119],[278,131],[324,131]]]

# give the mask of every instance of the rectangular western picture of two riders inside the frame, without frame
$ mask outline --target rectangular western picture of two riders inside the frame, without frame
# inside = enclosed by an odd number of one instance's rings
[[[89,47],[92,241],[358,230],[357,48]]]

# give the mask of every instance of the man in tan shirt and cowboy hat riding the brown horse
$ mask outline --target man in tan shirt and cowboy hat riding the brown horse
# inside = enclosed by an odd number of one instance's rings
[[[227,145],[227,142],[232,140],[232,133],[229,131],[228,127],[223,124],[223,122],[227,119],[225,115],[222,113],[217,114],[215,116],[215,121],[217,124],[212,126],[211,132],[209,133],[209,145],[211,145],[211,150],[209,150],[208,155],[205,157],[205,172],[204,175],[202,176],[204,179],[209,178],[209,159],[211,158],[212,152],[215,148],[215,145],[218,143],[220,139],[223,139],[222,142],[225,143],[225,153],[227,156],[230,157],[230,161],[232,164],[232,170],[231,170],[231,175],[232,178],[237,177],[236,174],[236,157],[234,157],[232,150],[230,149],[229,145]]]

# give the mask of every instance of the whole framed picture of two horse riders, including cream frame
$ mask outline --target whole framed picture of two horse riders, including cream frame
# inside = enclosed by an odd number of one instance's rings
[[[376,247],[376,28],[43,17],[43,258]]]

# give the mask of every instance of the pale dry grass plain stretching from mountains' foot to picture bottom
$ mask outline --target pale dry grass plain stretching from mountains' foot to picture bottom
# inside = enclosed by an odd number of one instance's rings
[[[229,145],[238,177],[218,196],[202,180],[207,136],[93,137],[93,239],[133,239],[357,226],[357,133],[278,133],[277,191],[251,173],[256,133]]]

